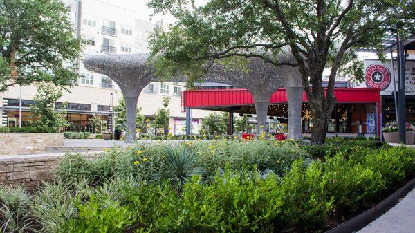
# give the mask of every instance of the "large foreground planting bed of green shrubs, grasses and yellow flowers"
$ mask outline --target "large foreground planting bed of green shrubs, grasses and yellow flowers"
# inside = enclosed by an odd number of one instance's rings
[[[3,187],[0,224],[8,221],[4,232],[321,232],[369,207],[415,168],[414,149],[342,142],[349,146],[324,159],[275,140],[67,156],[56,183],[34,196]]]

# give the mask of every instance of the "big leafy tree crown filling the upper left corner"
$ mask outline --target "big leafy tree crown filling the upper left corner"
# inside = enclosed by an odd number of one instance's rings
[[[0,92],[15,84],[71,86],[81,40],[58,0],[0,0]]]

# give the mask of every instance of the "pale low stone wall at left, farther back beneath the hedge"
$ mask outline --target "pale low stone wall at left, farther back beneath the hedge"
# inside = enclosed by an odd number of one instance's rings
[[[39,153],[62,145],[63,133],[0,133],[0,156]]]

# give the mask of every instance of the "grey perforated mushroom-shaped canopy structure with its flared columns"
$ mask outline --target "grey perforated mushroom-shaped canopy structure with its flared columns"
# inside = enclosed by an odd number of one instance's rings
[[[284,56],[284,55],[283,55]],[[138,96],[147,84],[154,81],[160,81],[154,75],[151,64],[147,61],[149,55],[147,53],[129,54],[129,55],[93,55],[84,59],[84,66],[90,71],[102,73],[110,77],[120,86],[124,95],[125,106],[127,111],[127,133],[125,143],[133,143],[136,141],[136,109]],[[286,57],[277,57],[277,59],[286,59]],[[267,64],[259,58],[250,58],[248,62],[248,72],[241,70],[229,70],[223,64],[214,64],[203,78],[206,82],[221,82],[230,84],[239,88],[246,88],[255,100],[255,111],[257,114],[257,131],[261,132],[261,126],[266,126],[266,116],[268,113],[268,104],[270,96],[282,86],[286,86],[288,95],[288,109],[290,105],[293,111],[289,113],[298,115],[292,120],[288,131],[294,127],[298,127],[298,132],[291,132],[291,138],[301,138],[301,100],[297,100],[297,96],[291,96],[288,88],[295,90],[293,95],[298,95],[299,88],[291,88],[291,86],[301,86],[301,82],[293,81],[301,80],[297,68],[292,66],[274,66]],[[171,80],[164,81],[185,81],[186,78],[178,79],[172,77]],[[297,103],[291,103],[290,96]],[[298,102],[299,101],[299,102]],[[298,107],[299,106],[299,107]],[[291,115],[289,114],[289,115]],[[298,119],[297,119],[298,118]],[[290,123],[290,122],[289,122]],[[294,133],[294,134],[293,134]]]

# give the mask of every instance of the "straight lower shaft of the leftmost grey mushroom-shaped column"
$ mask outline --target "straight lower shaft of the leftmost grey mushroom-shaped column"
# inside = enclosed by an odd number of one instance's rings
[[[124,97],[125,111],[127,112],[127,132],[125,133],[124,143],[135,143],[136,133],[136,114],[138,97]]]

